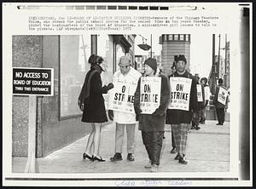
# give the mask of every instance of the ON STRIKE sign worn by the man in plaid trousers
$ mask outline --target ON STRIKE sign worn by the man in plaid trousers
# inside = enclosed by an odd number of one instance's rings
[[[171,102],[168,109],[189,111],[189,97],[192,79],[170,77]]]

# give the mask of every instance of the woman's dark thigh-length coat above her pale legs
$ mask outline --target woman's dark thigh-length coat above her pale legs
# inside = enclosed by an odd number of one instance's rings
[[[108,122],[104,98],[102,94],[108,93],[108,87],[102,87],[101,70],[97,66],[91,66],[87,72],[82,92],[79,99],[84,101],[82,122],[104,123]],[[89,79],[90,78],[90,79]],[[90,89],[90,91],[88,91]],[[85,97],[86,92],[89,96]]]

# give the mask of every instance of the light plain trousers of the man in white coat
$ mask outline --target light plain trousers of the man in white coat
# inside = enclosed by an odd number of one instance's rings
[[[134,153],[135,149],[135,123],[120,124],[116,123],[115,127],[115,152],[121,153],[123,149],[124,134],[127,134],[127,152]]]

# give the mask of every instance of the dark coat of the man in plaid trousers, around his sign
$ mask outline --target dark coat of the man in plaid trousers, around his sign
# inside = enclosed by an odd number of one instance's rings
[[[189,111],[183,110],[172,110],[168,109],[166,112],[166,123],[167,124],[180,124],[180,123],[191,123],[193,117],[193,111],[198,111],[199,106],[197,103],[197,94],[196,94],[196,80],[189,72],[184,72],[183,75],[179,75],[177,72],[174,72],[170,77],[186,77],[191,78],[191,89],[189,96]]]

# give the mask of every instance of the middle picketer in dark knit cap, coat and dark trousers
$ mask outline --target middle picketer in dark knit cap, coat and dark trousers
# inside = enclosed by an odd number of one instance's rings
[[[168,77],[157,69],[155,59],[148,58],[144,65],[146,77],[160,77],[160,106],[152,114],[142,114],[140,103],[142,77],[140,77],[134,94],[134,109],[139,121],[139,130],[142,131],[143,144],[148,152],[149,163],[144,168],[157,172],[165,133],[166,109],[170,102],[170,83]]]

